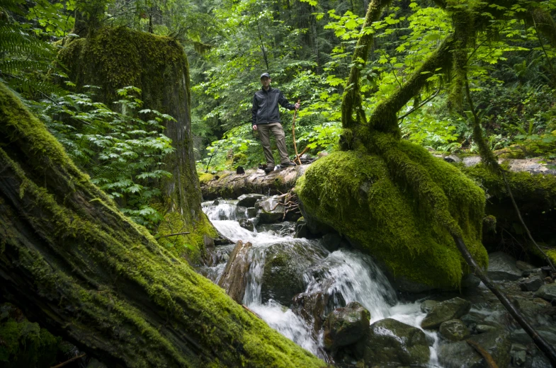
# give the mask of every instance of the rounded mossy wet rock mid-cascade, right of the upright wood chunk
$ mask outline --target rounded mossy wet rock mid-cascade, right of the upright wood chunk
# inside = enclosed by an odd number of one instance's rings
[[[269,299],[290,306],[296,294],[305,291],[303,272],[310,265],[302,244],[276,244],[266,250],[261,282],[263,303]]]

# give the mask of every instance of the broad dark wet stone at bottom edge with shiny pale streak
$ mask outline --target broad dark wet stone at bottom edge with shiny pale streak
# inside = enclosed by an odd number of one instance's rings
[[[425,364],[430,357],[425,333],[392,318],[385,318],[370,326],[364,350],[365,363],[382,366]]]

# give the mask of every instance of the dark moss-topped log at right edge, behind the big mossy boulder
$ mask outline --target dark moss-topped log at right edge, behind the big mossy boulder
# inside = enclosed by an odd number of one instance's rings
[[[526,246],[525,250],[529,256],[542,258],[538,249],[526,236],[502,177],[492,173],[482,164],[462,166],[461,170],[484,188],[489,197],[485,211],[488,215],[496,217],[494,231],[485,231],[484,234],[483,242],[489,251],[504,250],[523,258],[521,253],[523,246]],[[526,222],[535,241],[548,247],[545,248],[545,252],[556,262],[556,176],[550,173],[509,171],[506,177],[523,221]],[[540,263],[543,263],[543,260],[540,259]]]

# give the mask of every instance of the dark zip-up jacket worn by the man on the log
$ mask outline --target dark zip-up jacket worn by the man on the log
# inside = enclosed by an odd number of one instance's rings
[[[256,91],[255,96],[253,96],[253,108],[251,109],[253,113],[251,125],[280,122],[278,103],[288,110],[295,109],[295,105],[289,103],[278,88],[269,87],[268,91],[261,88],[260,91]]]

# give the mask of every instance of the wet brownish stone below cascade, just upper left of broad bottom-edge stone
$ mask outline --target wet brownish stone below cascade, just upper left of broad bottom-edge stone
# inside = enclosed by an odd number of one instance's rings
[[[368,332],[369,323],[369,311],[357,301],[334,309],[324,321],[324,347],[334,351],[356,343]]]

